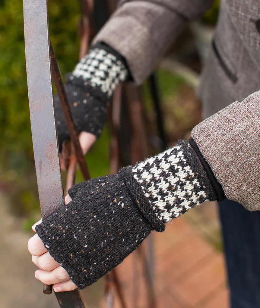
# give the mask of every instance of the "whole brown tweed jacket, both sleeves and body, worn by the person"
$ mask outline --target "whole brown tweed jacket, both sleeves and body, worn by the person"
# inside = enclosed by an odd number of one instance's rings
[[[94,43],[106,42],[122,54],[139,84],[185,24],[200,18],[212,2],[122,0]],[[250,210],[260,209],[259,85],[260,1],[221,0],[199,88],[203,116],[212,116],[197,125],[191,136],[226,196]]]

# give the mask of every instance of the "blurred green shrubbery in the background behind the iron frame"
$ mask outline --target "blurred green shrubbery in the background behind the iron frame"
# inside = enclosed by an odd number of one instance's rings
[[[203,22],[214,24],[218,8],[219,1],[215,1]],[[79,1],[49,1],[50,37],[62,74],[73,70],[78,61],[79,14]],[[178,76],[160,71],[159,82],[164,101],[172,102],[176,95],[187,96],[185,82]],[[174,109],[172,104],[170,106],[166,104],[166,112]],[[182,103],[181,106],[183,108]],[[180,106],[176,108],[176,125],[181,126],[187,110]],[[185,125],[186,130],[190,129]],[[30,217],[39,210],[39,201],[27,97],[21,0],[0,0],[0,136],[0,190],[10,197],[15,214]],[[109,133],[106,129],[87,156],[92,176],[109,171],[108,153]]]

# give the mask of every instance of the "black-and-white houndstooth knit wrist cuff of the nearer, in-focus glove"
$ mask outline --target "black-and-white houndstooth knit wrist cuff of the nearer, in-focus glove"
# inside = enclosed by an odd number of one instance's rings
[[[187,141],[137,164],[132,172],[160,221],[170,221],[195,205],[216,200],[212,184]]]

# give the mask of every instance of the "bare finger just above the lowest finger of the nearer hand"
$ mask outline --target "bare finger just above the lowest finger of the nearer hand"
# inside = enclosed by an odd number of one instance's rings
[[[50,272],[36,270],[35,277],[46,285],[53,285],[55,283],[64,282],[70,279],[68,273],[61,266]]]

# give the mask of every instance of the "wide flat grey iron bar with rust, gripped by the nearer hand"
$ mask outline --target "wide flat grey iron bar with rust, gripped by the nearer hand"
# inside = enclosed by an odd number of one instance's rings
[[[48,0],[24,0],[23,12],[31,131],[44,219],[64,206],[53,106]],[[44,291],[46,294],[52,293],[52,286],[46,286]],[[55,295],[62,308],[84,308],[78,290],[58,292]]]

